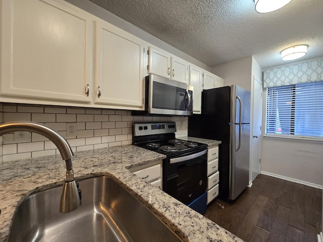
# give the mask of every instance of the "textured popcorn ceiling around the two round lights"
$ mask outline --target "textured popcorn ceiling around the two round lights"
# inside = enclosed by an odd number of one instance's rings
[[[323,56],[323,0],[292,0],[259,14],[253,0],[90,0],[213,67],[253,55],[263,68],[290,64],[280,51],[307,44],[294,62]]]

